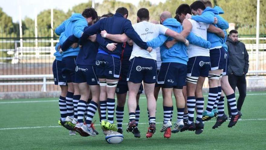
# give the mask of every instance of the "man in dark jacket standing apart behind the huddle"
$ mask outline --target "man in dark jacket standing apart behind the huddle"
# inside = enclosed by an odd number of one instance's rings
[[[241,111],[241,107],[246,97],[246,74],[248,73],[248,52],[245,48],[245,44],[238,41],[238,32],[231,30],[229,32],[229,38],[227,38],[226,45],[229,52],[229,66],[228,66],[228,80],[235,91],[237,86],[239,91],[239,98],[237,100],[237,109]],[[228,111],[230,114],[230,107]]]

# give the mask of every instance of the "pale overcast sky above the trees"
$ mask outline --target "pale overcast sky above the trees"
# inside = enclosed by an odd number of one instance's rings
[[[0,7],[3,11],[12,17],[13,22],[18,22],[18,7],[21,6],[22,19],[28,16],[34,19],[34,8],[37,13],[44,9],[57,8],[67,12],[74,5],[82,2],[88,2],[88,0],[0,0]],[[102,2],[103,0],[95,0],[95,2]],[[140,0],[118,0],[122,2],[130,2],[134,5],[138,5]],[[166,0],[150,0],[153,4],[159,2],[165,2]]]

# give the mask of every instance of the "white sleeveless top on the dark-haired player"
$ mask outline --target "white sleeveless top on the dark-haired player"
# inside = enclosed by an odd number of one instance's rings
[[[196,22],[195,20],[192,19],[188,20],[192,24],[191,32],[194,33],[196,36],[199,36],[207,40],[207,30],[209,28],[209,24],[203,22]],[[189,58],[195,56],[210,56],[210,50],[207,48],[189,44],[189,46],[187,47],[187,54]]]

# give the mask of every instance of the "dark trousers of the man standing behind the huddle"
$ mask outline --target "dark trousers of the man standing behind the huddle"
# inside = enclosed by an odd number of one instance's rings
[[[242,75],[242,76],[238,76],[238,75],[234,75],[234,74],[228,75],[228,81],[229,81],[230,86],[234,90],[234,92],[235,92],[235,87],[238,88],[239,97],[237,100],[236,107],[239,111],[241,111],[242,105],[243,105],[245,97],[247,95],[246,75]],[[229,113],[229,115],[231,115],[229,103],[227,103],[227,107],[228,107],[228,113]]]

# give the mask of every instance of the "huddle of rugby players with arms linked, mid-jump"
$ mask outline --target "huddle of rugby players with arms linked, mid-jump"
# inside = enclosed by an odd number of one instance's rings
[[[224,95],[231,108],[228,127],[234,126],[242,114],[237,110],[226,72],[225,30],[229,24],[220,16],[224,13],[222,8],[212,8],[211,2],[202,1],[180,5],[175,18],[170,12],[162,12],[160,24],[149,22],[148,9],[141,8],[137,12],[138,23],[131,25],[128,10],[120,7],[114,15],[109,13],[100,18],[93,8],[86,8],[58,26],[55,33],[60,38],[53,72],[55,84],[62,91],[59,124],[70,130],[70,134],[76,131],[81,136],[96,136],[99,133],[92,119],[98,109],[103,133],[122,134],[128,92],[126,131],[139,138],[138,100],[145,91],[149,120],[146,137],[150,138],[156,131],[156,100],[162,89],[164,120],[160,132],[164,132],[165,138],[186,130],[200,134],[204,121],[216,115],[212,128],[218,128],[228,119],[224,113]],[[202,88],[206,77],[209,96],[203,111]],[[172,93],[177,121],[171,130]]]

